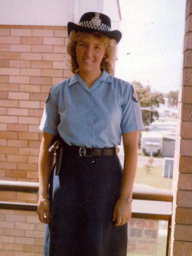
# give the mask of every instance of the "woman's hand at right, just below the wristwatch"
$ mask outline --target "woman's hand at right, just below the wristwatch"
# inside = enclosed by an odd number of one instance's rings
[[[115,226],[122,226],[131,219],[131,204],[119,198],[113,210],[113,220]]]

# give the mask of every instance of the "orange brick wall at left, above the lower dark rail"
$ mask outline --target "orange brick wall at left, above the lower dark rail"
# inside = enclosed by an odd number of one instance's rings
[[[0,179],[38,181],[38,129],[53,84],[71,76],[66,27],[0,25]],[[37,195],[1,192],[0,200]]]

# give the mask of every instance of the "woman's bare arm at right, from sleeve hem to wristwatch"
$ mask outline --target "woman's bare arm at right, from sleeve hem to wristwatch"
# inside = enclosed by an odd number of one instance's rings
[[[134,179],[137,169],[138,159],[138,131],[134,131],[130,136],[123,137],[124,145],[124,167],[123,167],[123,183],[121,187],[121,195],[127,198],[132,197]]]

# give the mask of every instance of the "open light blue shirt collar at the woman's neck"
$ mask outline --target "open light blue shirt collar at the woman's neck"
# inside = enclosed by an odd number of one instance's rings
[[[70,78],[68,86],[73,85],[76,82],[79,82],[79,84],[85,90],[93,90],[99,85],[100,82],[111,82],[111,75],[109,73],[107,73],[105,70],[103,70],[100,77],[97,78],[97,80],[93,83],[93,85],[90,87],[90,89],[87,87],[87,85],[85,85],[83,79],[79,76],[78,72]]]

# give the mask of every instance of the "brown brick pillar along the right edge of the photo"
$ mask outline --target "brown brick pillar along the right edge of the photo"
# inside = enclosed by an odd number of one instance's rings
[[[192,2],[186,1],[183,75],[178,97],[171,255],[192,252]]]

